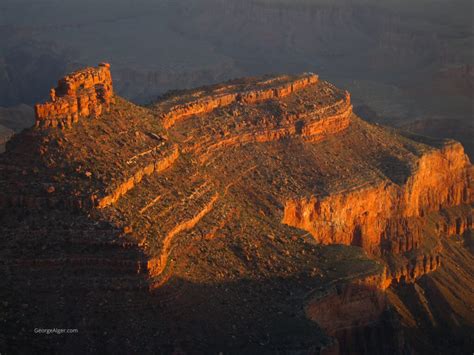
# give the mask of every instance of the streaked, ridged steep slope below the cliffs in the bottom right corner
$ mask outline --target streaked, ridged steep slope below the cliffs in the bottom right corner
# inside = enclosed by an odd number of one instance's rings
[[[388,293],[420,353],[465,353],[474,346],[471,233],[442,241],[443,261],[437,272]]]

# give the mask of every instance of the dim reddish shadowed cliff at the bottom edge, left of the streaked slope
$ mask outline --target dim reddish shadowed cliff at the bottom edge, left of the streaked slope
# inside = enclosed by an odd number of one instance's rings
[[[311,293],[305,313],[336,339],[336,354],[410,353],[388,304],[383,278],[362,277]]]

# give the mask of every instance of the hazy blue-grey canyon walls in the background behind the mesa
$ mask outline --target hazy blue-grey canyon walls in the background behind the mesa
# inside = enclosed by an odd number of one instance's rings
[[[314,71],[349,90],[362,118],[459,140],[473,156],[469,0],[4,0],[1,10],[0,149],[34,124],[32,107],[56,78],[108,58],[117,93],[141,104],[173,89]]]

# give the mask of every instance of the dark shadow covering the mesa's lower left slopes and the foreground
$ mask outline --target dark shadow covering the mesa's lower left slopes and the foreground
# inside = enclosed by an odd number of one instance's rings
[[[399,329],[386,315],[370,324],[347,320],[339,345],[307,318],[308,296],[328,286],[325,278],[295,271],[199,283],[173,276],[172,266],[169,280],[150,291],[147,257],[121,231],[82,214],[48,216],[12,208],[0,218],[0,348],[7,353],[344,352],[346,339],[362,352],[398,353]],[[345,302],[357,307],[357,298]],[[78,332],[38,333],[54,328]]]

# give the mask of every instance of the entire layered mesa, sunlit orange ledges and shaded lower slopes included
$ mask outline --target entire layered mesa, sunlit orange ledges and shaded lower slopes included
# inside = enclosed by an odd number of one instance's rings
[[[460,143],[368,123],[313,73],[113,88],[109,64],[67,75],[0,155],[0,349],[470,349]]]

